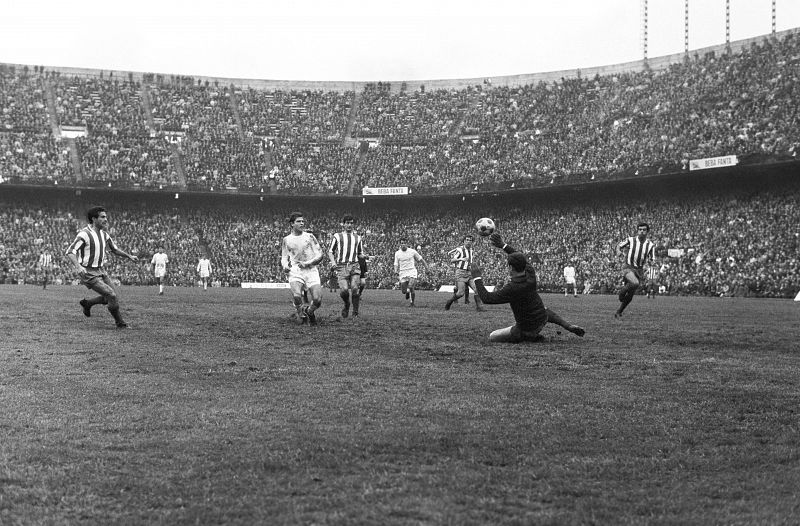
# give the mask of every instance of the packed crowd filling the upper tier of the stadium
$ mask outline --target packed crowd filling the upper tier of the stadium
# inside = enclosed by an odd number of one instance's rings
[[[431,91],[373,83],[357,93],[142,84],[4,66],[0,132],[25,153],[4,147],[0,176],[70,180],[69,163],[41,138],[53,133],[53,113],[58,124],[87,127],[87,181],[163,185],[163,166],[134,170],[133,183],[103,144],[135,143],[126,147],[153,162],[160,143],[179,134],[186,171],[176,163],[166,179],[200,190],[260,191],[268,183],[269,191],[301,195],[363,186],[491,191],[675,172],[722,155],[793,159],[798,61],[800,38],[787,33],[730,54],[687,55],[660,71]],[[356,149],[359,140],[372,147]]]

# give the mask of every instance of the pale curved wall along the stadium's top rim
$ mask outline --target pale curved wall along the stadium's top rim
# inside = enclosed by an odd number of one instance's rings
[[[692,50],[689,55],[706,55],[708,53],[725,53],[730,47],[730,50],[737,52],[740,49],[747,47],[754,43],[759,43],[770,38],[782,38],[791,33],[800,32],[800,28],[787,29],[785,31],[777,32],[774,36],[761,35],[758,37],[737,40],[731,42],[730,46],[720,44],[716,46],[705,47],[701,49]],[[421,86],[425,89],[463,89],[469,86],[481,85],[486,82],[491,83],[493,86],[524,86],[530,84],[537,84],[539,82],[558,82],[561,79],[569,79],[576,77],[594,77],[596,75],[615,75],[620,73],[640,72],[645,69],[662,70],[683,61],[686,58],[686,53],[675,53],[672,55],[664,55],[661,57],[651,58],[648,60],[636,60],[633,62],[624,62],[620,64],[611,64],[606,66],[595,66],[584,69],[569,69],[561,71],[550,71],[541,73],[525,73],[520,75],[507,75],[499,77],[481,77],[470,79],[429,79],[429,80],[397,80],[391,81],[393,87],[395,85],[405,84],[409,90],[418,90]],[[32,68],[33,65],[25,64],[6,64],[15,68]],[[175,75],[171,73],[144,73],[144,72],[130,72],[118,70],[99,70],[87,68],[70,68],[60,66],[43,66],[46,71],[57,71],[63,75],[78,76],[78,77],[109,77],[113,75],[114,78],[123,80],[134,80],[143,82],[145,78],[152,77],[154,82],[161,81],[165,83],[172,82],[185,82],[185,79],[191,79],[194,84],[197,82],[205,83],[208,81],[210,84],[219,84],[221,86],[235,86],[238,88],[253,88],[265,91],[274,90],[312,90],[312,91],[361,91],[366,84],[373,82],[380,82],[382,79],[375,79],[369,82],[348,82],[348,81],[305,81],[305,80],[271,80],[271,79],[231,79],[224,77],[206,77],[198,75]],[[149,81],[148,81],[149,82]]]

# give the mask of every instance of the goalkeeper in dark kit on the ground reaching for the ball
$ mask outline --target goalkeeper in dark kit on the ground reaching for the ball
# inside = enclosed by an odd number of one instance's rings
[[[541,341],[541,330],[548,323],[555,323],[564,327],[577,336],[583,336],[583,328],[565,321],[561,316],[544,306],[539,292],[536,290],[536,271],[533,269],[525,254],[505,244],[502,236],[495,232],[489,236],[492,245],[504,250],[508,254],[508,273],[511,281],[494,292],[489,292],[483,286],[481,268],[472,264],[470,272],[475,280],[477,293],[486,304],[509,303],[514,313],[511,327],[497,329],[489,335],[490,342],[519,343],[523,341]]]

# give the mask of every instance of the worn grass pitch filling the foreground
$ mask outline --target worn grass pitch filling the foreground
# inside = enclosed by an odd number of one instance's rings
[[[2,524],[792,524],[800,304],[545,295],[586,328],[489,345],[508,306],[0,287]]]

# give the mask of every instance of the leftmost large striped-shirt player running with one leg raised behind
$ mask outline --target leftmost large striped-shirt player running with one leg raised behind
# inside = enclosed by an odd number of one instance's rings
[[[102,206],[95,206],[86,212],[89,225],[78,232],[75,240],[67,248],[66,256],[75,266],[81,283],[90,290],[99,294],[90,299],[82,299],[79,303],[83,308],[83,315],[87,318],[92,315],[94,305],[108,305],[108,312],[114,317],[117,327],[127,328],[128,324],[122,319],[119,312],[119,299],[117,291],[111,283],[103,264],[106,253],[111,252],[120,257],[136,262],[139,258],[120,249],[108,234],[108,213]]]

